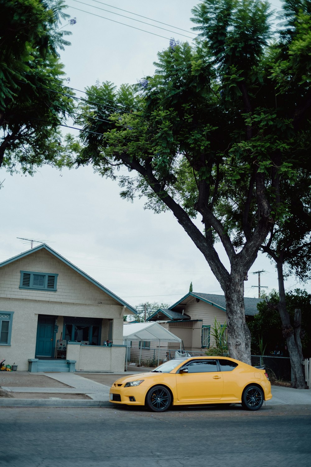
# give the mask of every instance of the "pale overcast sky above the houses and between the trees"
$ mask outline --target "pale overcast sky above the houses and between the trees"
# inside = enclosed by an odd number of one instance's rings
[[[153,22],[169,31],[119,16],[152,23],[95,0],[85,0],[84,4],[68,0],[67,12],[77,22],[66,27],[72,31],[69,38],[72,45],[62,52],[61,59],[70,78],[69,85],[74,88],[83,90],[97,79],[116,85],[136,83],[153,73],[157,52],[168,47],[171,37],[191,42],[181,34],[194,36],[189,21],[191,8],[196,4],[192,0],[108,2],[167,23],[170,26]],[[278,9],[280,2],[274,0],[273,4]],[[30,248],[29,242],[24,244],[17,239],[24,237],[48,243],[132,306],[145,301],[173,304],[188,292],[191,281],[196,292],[223,294],[203,255],[173,214],[153,214],[143,209],[143,200],[131,204],[120,199],[117,183],[93,174],[90,167],[62,172],[43,167],[35,177],[11,177],[0,170],[0,182],[3,180],[0,261]],[[201,226],[200,219],[197,225]],[[217,249],[224,258],[219,244]],[[225,259],[224,263],[228,268]],[[258,275],[252,274],[258,270],[266,271],[261,275],[262,286],[268,286],[264,290],[277,289],[274,266],[259,254],[245,282],[247,297],[258,296],[258,289],[252,287],[258,285]],[[295,279],[289,278],[286,289],[295,287]],[[304,288],[311,291],[309,286]]]

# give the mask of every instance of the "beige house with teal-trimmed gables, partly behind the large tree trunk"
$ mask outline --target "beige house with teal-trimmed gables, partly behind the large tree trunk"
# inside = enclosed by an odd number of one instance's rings
[[[257,313],[257,304],[260,298],[244,298],[246,321],[252,319]],[[183,341],[184,349],[204,352],[213,345],[211,327],[215,318],[223,325],[226,322],[226,300],[224,295],[189,292],[169,309],[161,309],[147,318],[147,321],[157,321],[168,331],[178,336]],[[139,343],[140,345],[140,343]],[[142,342],[142,359],[153,358],[154,345],[150,342]],[[131,358],[137,357],[138,344],[132,343]],[[166,347],[166,348],[164,348]],[[173,351],[176,346],[168,343],[163,346],[162,357],[166,358],[166,352]],[[176,347],[177,348],[177,347]],[[148,352],[148,350],[149,352]],[[170,352],[172,356],[173,352]]]

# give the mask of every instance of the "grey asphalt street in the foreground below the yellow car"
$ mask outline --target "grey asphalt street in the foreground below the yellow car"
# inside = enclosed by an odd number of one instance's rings
[[[1,467],[310,467],[311,406],[0,408]]]

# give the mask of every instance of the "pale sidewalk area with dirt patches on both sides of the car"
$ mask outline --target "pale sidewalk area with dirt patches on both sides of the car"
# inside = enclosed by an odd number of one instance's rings
[[[4,372],[1,372],[0,385],[13,397],[0,397],[0,407],[112,407],[109,402],[111,384],[123,375],[146,371],[150,371],[150,368],[129,368],[127,372],[117,374],[21,371],[3,375]],[[22,397],[23,394],[25,397]],[[272,396],[270,401],[265,402],[267,407],[311,405],[310,389],[272,386]]]

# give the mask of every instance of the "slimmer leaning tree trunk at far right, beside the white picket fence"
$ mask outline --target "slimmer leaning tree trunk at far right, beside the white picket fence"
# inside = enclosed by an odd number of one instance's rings
[[[297,389],[306,389],[304,379],[304,369],[302,364],[302,353],[300,335],[299,337],[296,334],[290,324],[290,315],[286,308],[286,297],[284,289],[284,277],[283,277],[283,264],[282,261],[276,262],[277,276],[278,276],[278,285],[279,285],[279,297],[280,301],[278,303],[278,311],[280,313],[282,321],[282,333],[283,337],[286,339],[288,353],[290,354],[290,365],[292,373],[292,387]]]

